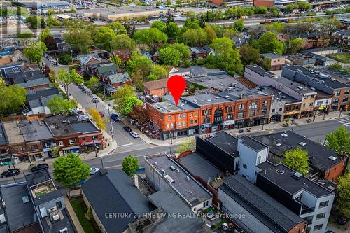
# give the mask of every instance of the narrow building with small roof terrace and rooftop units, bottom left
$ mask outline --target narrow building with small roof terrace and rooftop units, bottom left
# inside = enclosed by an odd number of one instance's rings
[[[25,174],[25,183],[29,197],[22,197],[22,200],[31,202],[31,208],[34,208],[31,218],[38,221],[43,233],[77,232],[62,192],[57,189],[47,169]]]

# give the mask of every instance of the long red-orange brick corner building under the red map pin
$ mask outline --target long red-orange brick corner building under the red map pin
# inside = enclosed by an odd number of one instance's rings
[[[236,90],[181,97],[146,104],[151,129],[162,139],[251,127],[268,123],[271,96],[258,90]]]

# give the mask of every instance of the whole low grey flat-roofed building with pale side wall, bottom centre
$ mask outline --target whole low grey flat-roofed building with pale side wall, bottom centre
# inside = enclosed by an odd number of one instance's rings
[[[157,191],[171,188],[194,213],[204,211],[213,195],[167,155],[145,157],[146,179]]]

